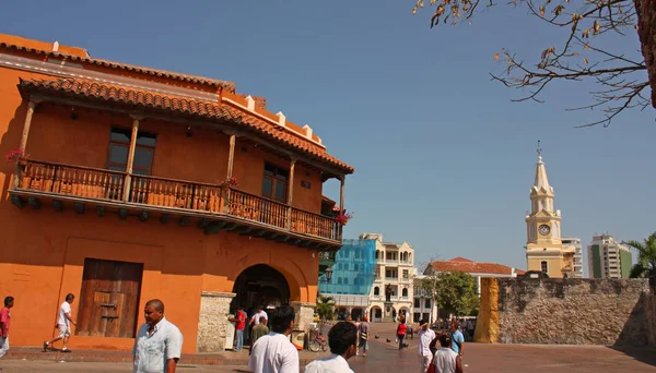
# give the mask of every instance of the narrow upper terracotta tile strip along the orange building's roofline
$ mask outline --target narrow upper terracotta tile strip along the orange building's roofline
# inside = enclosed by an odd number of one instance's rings
[[[147,74],[147,75],[152,75],[152,76],[168,77],[168,79],[173,79],[173,80],[181,81],[181,82],[190,82],[190,83],[204,84],[204,85],[214,86],[214,87],[222,87],[231,93],[235,92],[235,84],[233,82],[219,81],[219,80],[202,77],[202,76],[198,76],[198,75],[181,74],[181,73],[176,73],[176,72],[166,71],[166,70],[138,67],[134,64],[120,63],[120,62],[108,61],[108,60],[91,58],[91,57],[81,57],[81,56],[75,56],[75,55],[69,55],[69,53],[62,53],[62,52],[56,52],[56,51],[49,51],[49,50],[42,50],[42,49],[30,48],[30,47],[20,46],[20,45],[10,44],[10,43],[0,43],[0,47],[20,50],[20,51],[26,51],[26,52],[35,53],[35,55],[43,55],[43,56],[48,56],[48,57],[60,58],[60,59],[65,59],[65,60],[75,61],[75,62],[85,62],[85,63],[91,63],[91,64],[110,68],[110,69],[127,70],[127,71],[132,71],[132,72],[142,73],[142,74]]]

